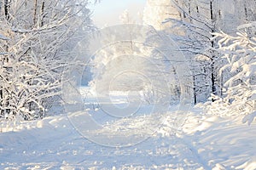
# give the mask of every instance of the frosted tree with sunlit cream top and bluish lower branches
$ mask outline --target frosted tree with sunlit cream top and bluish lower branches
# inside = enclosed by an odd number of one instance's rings
[[[186,83],[186,87],[180,87],[180,83],[178,79],[190,79],[190,71],[189,68],[186,66],[187,63],[180,54],[177,54],[177,50],[179,49],[178,46],[180,44],[173,42],[172,39],[178,36],[184,36],[185,31],[182,27],[176,27],[177,20],[182,20],[182,13],[180,8],[177,8],[177,1],[156,1],[156,0],[148,0],[147,5],[143,11],[143,23],[147,26],[152,26],[155,30],[155,35],[152,37],[148,37],[149,42],[158,42],[159,44],[154,43],[155,49],[159,49],[160,51],[164,52],[165,59],[154,58],[156,65],[169,65],[169,70],[162,68],[162,72],[166,72],[166,77],[172,79],[170,96],[174,99],[179,99],[179,95],[183,93],[188,93],[190,96],[190,89],[192,84]],[[166,19],[172,18],[172,20],[166,21]],[[164,36],[163,36],[164,35]],[[167,37],[167,38],[166,38]],[[161,40],[159,38],[162,38]],[[152,51],[152,55],[157,53],[158,50]],[[179,51],[180,52],[180,51]],[[176,56],[175,56],[176,55]],[[157,56],[157,55],[155,55]],[[181,57],[180,59],[178,59]],[[181,64],[181,60],[183,60],[183,64]],[[177,75],[177,72],[181,72],[179,70],[179,65],[183,65],[182,74],[183,77]],[[169,75],[167,76],[167,74]],[[157,79],[157,78],[156,78]],[[160,80],[159,80],[160,81]],[[182,81],[182,82],[183,82]],[[160,81],[161,82],[161,81]],[[168,82],[168,81],[167,81]],[[185,81],[190,82],[190,81]],[[165,82],[166,83],[166,82]],[[186,90],[182,90],[182,89]],[[183,91],[183,92],[181,92]],[[186,92],[185,92],[186,91]],[[166,93],[168,94],[168,93]]]

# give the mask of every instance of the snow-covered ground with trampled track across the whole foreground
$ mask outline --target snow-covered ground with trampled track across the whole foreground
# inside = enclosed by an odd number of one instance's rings
[[[115,105],[123,104],[117,98],[115,101]],[[142,114],[108,120],[109,116],[102,116],[102,105],[97,111],[91,108],[87,108],[90,115],[84,111],[49,116],[40,121],[1,120],[0,169],[256,168],[256,123],[252,121],[247,126],[241,122],[242,116],[209,115],[199,108],[179,115],[175,107],[161,114],[143,115],[151,111],[145,105]],[[79,116],[91,115],[100,127],[91,132],[102,144],[92,142],[91,136],[86,139],[73,126],[72,119],[81,121]],[[182,127],[175,123],[179,116],[186,117]],[[162,123],[156,126],[159,121]],[[123,136],[113,135],[116,132],[123,132]],[[106,144],[107,136],[112,144],[127,142],[126,139],[132,143],[136,133],[141,132],[148,133],[148,138],[137,144],[124,147]]]

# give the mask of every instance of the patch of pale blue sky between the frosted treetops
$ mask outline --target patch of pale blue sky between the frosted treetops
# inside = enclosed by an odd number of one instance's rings
[[[119,15],[125,9],[133,19],[139,20],[138,13],[143,13],[145,4],[146,0],[101,0],[101,3],[90,5],[93,11],[92,20],[98,27],[118,25],[121,24]]]

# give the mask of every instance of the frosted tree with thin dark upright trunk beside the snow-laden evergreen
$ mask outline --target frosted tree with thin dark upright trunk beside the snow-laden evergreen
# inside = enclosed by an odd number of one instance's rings
[[[176,33],[174,38],[191,60],[195,103],[206,101],[210,94],[221,95],[223,80],[217,71],[224,60],[214,49],[217,42],[212,39],[212,33],[226,31],[232,34],[237,26],[255,20],[255,1],[172,0],[171,3],[179,17],[171,14],[165,22],[171,22],[175,30],[184,31],[184,34]]]

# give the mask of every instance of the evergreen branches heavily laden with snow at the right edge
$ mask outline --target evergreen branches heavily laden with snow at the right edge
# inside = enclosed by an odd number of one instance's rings
[[[249,115],[252,122],[256,105],[256,37],[237,33],[236,37],[214,33],[219,38],[218,50],[227,64],[219,70],[221,77],[228,77],[224,83],[224,97],[212,95],[215,101],[205,106],[208,113],[222,116]],[[229,75],[226,75],[229,73]]]

